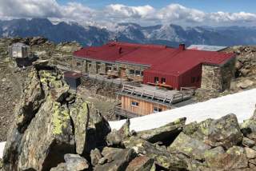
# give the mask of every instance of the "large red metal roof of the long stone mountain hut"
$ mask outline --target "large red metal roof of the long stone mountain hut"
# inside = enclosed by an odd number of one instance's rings
[[[122,49],[121,49],[122,48]],[[121,49],[121,50],[120,50]],[[78,58],[150,66],[147,72],[179,75],[199,64],[221,65],[234,54],[203,50],[182,50],[167,46],[110,42],[74,52]]]

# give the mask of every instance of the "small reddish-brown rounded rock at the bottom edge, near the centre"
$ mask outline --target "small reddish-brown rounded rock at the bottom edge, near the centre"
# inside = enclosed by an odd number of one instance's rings
[[[126,171],[154,171],[154,159],[146,156],[130,161]]]

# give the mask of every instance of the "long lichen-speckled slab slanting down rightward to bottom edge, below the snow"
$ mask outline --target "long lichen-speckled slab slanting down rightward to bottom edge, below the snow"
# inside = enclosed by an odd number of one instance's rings
[[[170,170],[187,169],[186,161],[178,158],[174,153],[169,153],[166,149],[158,148],[157,145],[139,137],[130,137],[123,141],[126,148],[132,148],[138,154],[153,158],[157,165]]]

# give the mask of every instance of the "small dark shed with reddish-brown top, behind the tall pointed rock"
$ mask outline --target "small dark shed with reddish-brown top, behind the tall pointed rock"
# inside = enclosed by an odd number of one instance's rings
[[[78,85],[81,84],[81,74],[67,71],[64,73],[64,80],[71,89],[77,89]]]

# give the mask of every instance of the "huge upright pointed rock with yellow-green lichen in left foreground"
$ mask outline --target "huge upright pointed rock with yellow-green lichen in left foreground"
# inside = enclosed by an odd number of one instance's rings
[[[88,139],[88,113],[86,102],[70,93],[62,74],[50,62],[35,62],[6,142],[4,169],[50,170],[64,161],[66,153],[82,153]],[[98,113],[91,121],[100,130],[96,134],[102,136],[106,131],[102,125],[108,128],[108,124]]]

